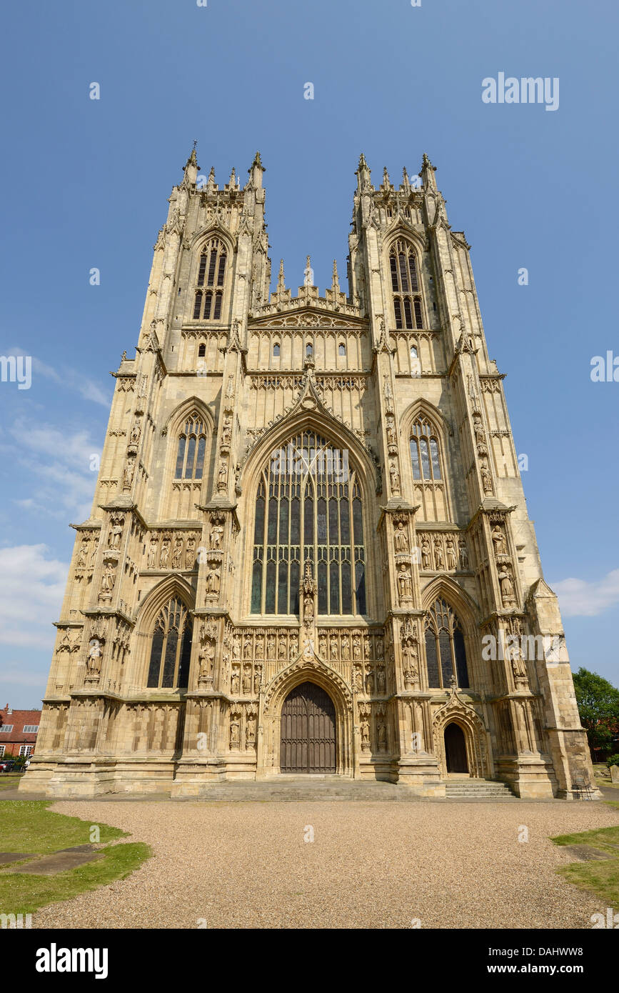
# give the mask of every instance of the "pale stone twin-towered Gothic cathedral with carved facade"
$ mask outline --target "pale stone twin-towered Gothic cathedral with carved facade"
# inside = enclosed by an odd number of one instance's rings
[[[159,232],[25,790],[294,774],[592,781],[461,231],[434,168],[363,156],[348,293],[270,292],[264,167]]]

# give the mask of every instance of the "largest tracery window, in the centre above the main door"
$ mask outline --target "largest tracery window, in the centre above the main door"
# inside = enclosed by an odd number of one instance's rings
[[[366,614],[363,509],[348,452],[304,431],[271,453],[256,497],[252,614],[298,614],[305,563],[318,614]]]

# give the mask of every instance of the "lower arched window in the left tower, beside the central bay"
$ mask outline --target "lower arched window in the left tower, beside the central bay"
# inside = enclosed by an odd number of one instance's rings
[[[191,654],[191,619],[181,600],[162,608],[155,622],[147,686],[186,687]]]

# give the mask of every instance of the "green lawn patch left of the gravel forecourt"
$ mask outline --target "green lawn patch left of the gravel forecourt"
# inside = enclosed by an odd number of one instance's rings
[[[91,841],[90,821],[48,810],[48,800],[0,800],[0,851],[50,854]],[[96,822],[95,822],[96,823]],[[0,867],[0,913],[32,914],[116,879],[125,879],[150,858],[143,842],[105,844],[126,837],[117,827],[97,823],[103,858],[56,876],[19,872],[23,863]]]

